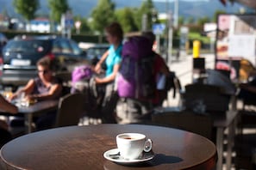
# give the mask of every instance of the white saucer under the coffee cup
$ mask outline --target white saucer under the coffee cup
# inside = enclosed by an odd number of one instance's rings
[[[119,153],[118,149],[110,149],[104,152],[103,156],[109,161],[114,161],[116,163],[121,163],[121,164],[131,164],[131,163],[134,164],[134,163],[149,161],[149,160],[152,160],[154,156],[153,152],[148,152],[148,153],[144,153],[142,156],[140,156],[140,158],[136,160],[127,160],[127,159],[124,159],[118,153]]]

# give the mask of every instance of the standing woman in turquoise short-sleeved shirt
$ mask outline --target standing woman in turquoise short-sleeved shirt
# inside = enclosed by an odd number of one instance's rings
[[[116,108],[116,101],[118,97],[114,92],[114,82],[122,59],[123,31],[118,22],[113,22],[108,27],[105,27],[105,33],[110,44],[109,50],[103,54],[103,57],[99,60],[94,69],[97,74],[101,73],[102,65],[105,63],[105,76],[96,76],[94,80],[97,85],[105,86],[105,94],[101,109],[103,123],[116,123],[114,110]]]

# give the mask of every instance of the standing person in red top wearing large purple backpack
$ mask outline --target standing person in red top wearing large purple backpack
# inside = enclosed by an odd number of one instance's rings
[[[122,48],[122,64],[117,77],[119,100],[116,105],[118,124],[151,121],[155,106],[162,96],[157,88],[159,74],[169,75],[163,58],[153,52],[153,33],[132,36]],[[166,92],[167,93],[167,92]]]

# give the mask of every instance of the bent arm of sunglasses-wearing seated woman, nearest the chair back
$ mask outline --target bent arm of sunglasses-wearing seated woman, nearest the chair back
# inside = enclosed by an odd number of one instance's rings
[[[46,94],[30,94],[29,100],[52,100],[59,96],[62,92],[62,85],[59,83],[53,84]]]

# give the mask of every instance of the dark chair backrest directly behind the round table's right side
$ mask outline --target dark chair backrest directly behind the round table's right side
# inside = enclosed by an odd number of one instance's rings
[[[206,115],[189,111],[160,112],[152,115],[153,124],[197,133],[213,140],[213,120]]]

